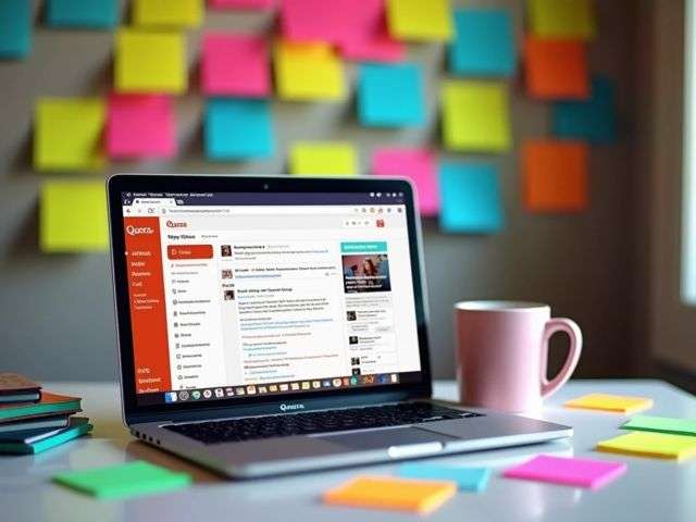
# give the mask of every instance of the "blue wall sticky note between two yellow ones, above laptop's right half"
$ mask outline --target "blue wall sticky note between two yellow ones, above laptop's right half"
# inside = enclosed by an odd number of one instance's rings
[[[423,73],[412,63],[366,63],[360,67],[358,116],[368,127],[425,123]]]

